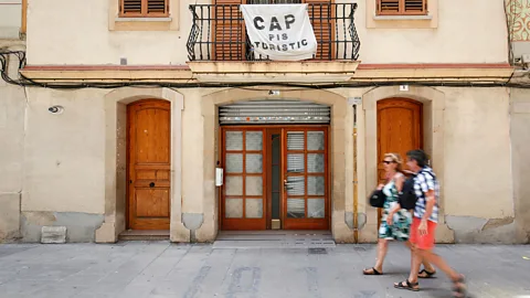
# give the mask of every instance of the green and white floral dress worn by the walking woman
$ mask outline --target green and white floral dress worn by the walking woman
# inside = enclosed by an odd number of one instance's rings
[[[390,211],[398,204],[398,189],[394,179],[383,187],[383,193],[386,195],[386,200],[383,206],[381,226],[379,227],[379,237],[384,240],[407,241],[412,223],[412,215],[409,211],[404,209],[399,210],[394,213],[392,225],[389,226],[386,223]]]

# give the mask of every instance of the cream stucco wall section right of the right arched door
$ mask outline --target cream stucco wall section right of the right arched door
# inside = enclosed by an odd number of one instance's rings
[[[446,88],[446,205],[452,215],[513,216],[507,88]],[[449,132],[451,131],[451,132]]]

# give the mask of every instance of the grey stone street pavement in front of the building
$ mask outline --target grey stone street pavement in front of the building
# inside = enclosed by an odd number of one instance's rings
[[[530,246],[438,245],[468,278],[471,297],[530,297]],[[394,289],[410,253],[390,246],[384,276],[363,276],[375,245],[214,249],[209,244],[1,244],[0,297],[451,297],[442,274],[418,292]]]

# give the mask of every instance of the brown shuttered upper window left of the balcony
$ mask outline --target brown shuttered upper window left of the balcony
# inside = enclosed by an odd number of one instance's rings
[[[119,15],[125,18],[168,17],[169,0],[119,0]]]

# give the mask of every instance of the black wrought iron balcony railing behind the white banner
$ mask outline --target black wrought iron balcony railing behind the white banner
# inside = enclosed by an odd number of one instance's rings
[[[357,3],[308,4],[318,42],[314,60],[357,60],[360,41],[353,14]],[[239,4],[191,4],[190,61],[267,61],[253,52]]]

